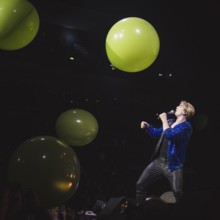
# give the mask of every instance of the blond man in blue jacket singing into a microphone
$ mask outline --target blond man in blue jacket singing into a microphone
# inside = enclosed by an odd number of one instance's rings
[[[161,113],[160,128],[155,128],[146,121],[140,124],[151,137],[159,139],[150,164],[143,170],[136,183],[136,204],[141,205],[148,196],[147,189],[161,178],[168,179],[176,202],[183,194],[183,166],[186,146],[192,135],[189,119],[195,114],[195,108],[183,100],[176,107],[176,119],[168,119],[167,113]]]

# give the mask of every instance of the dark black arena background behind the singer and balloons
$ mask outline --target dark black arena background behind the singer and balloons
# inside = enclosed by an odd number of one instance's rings
[[[140,122],[159,126],[156,113],[187,100],[196,115],[184,187],[219,187],[217,0],[30,2],[40,16],[37,36],[22,49],[0,50],[3,179],[19,144],[34,136],[56,136],[57,117],[82,108],[96,117],[99,133],[88,145],[74,148],[82,170],[75,198],[91,205],[96,199],[133,196],[156,145],[140,130]],[[105,52],[108,31],[126,17],[149,21],[160,38],[157,59],[137,73],[112,69]]]

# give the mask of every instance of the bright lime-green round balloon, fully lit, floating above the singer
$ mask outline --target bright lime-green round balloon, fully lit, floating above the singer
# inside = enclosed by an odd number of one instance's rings
[[[160,48],[155,28],[138,17],[115,23],[106,37],[106,53],[111,64],[125,72],[139,72],[156,59]]]

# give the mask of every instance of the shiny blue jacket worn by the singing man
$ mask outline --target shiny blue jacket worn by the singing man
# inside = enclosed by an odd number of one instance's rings
[[[172,120],[169,119],[168,123],[171,124]],[[185,121],[177,124],[174,128],[167,128],[163,131],[163,128],[155,128],[149,125],[146,128],[147,133],[153,137],[159,139],[161,135],[164,135],[168,140],[167,160],[168,167],[171,171],[183,167],[185,162],[186,146],[192,135],[192,126],[190,122]],[[158,149],[157,149],[158,150]],[[156,155],[157,152],[154,152]]]

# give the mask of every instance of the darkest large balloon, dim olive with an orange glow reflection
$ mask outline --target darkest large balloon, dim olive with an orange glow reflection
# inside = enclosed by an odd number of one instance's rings
[[[23,142],[12,154],[8,180],[35,191],[42,207],[68,201],[80,180],[80,164],[73,149],[62,140],[39,136]]]

